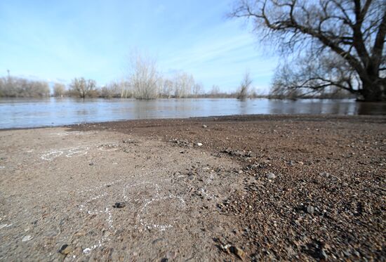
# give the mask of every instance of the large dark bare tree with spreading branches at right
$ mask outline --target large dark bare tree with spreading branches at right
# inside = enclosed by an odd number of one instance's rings
[[[230,15],[251,18],[255,33],[282,53],[323,57],[323,74],[310,74],[313,62],[290,88],[335,86],[366,101],[386,95],[385,0],[240,0]]]

